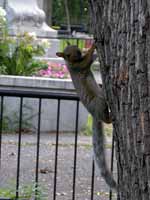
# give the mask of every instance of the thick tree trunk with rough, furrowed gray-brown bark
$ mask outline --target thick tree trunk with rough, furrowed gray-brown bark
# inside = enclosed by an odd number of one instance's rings
[[[89,0],[115,129],[120,200],[150,199],[150,1]]]

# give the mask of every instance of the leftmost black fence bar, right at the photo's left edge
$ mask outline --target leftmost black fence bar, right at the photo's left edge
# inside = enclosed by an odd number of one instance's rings
[[[2,129],[3,129],[3,105],[4,97],[1,96],[1,113],[0,113],[0,168],[1,168],[1,156],[2,156]]]

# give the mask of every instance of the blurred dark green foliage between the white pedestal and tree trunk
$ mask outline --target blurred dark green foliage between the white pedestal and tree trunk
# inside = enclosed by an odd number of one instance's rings
[[[52,1],[52,26],[61,27],[68,23],[67,10],[71,25],[82,25],[89,29],[88,0],[53,0]]]

